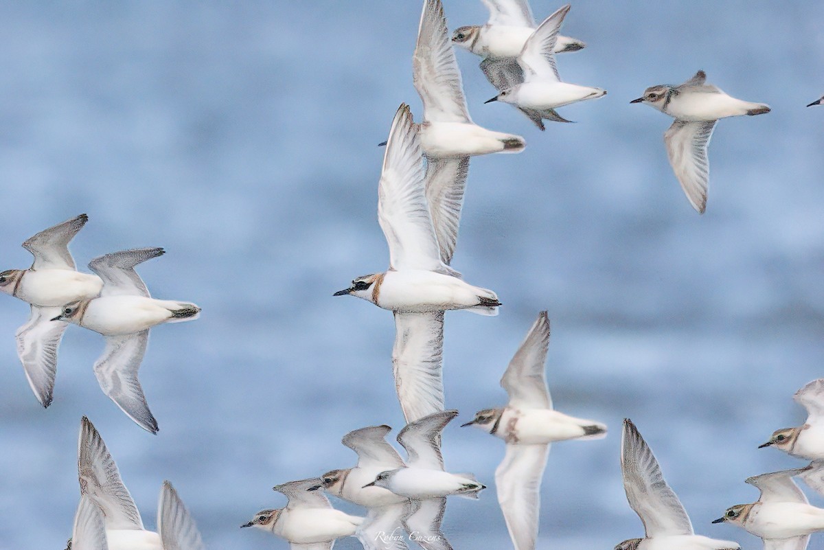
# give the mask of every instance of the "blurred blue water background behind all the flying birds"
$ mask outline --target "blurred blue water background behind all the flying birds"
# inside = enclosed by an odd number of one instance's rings
[[[152,330],[141,380],[151,436],[102,394],[103,339],[70,327],[44,410],[16,357],[28,307],[0,300],[0,548],[63,548],[78,500],[81,415],[101,431],[148,528],[171,480],[209,548],[287,548],[238,526],[282,506],[280,482],[354,464],[347,431],[403,420],[391,376],[391,314],[333,298],[386,268],[377,179],[392,114],[421,114],[411,56],[421,2],[4,2],[0,5],[0,268],[20,244],[87,212],[77,263],[163,246],[139,272],[154,296],[194,301],[194,323]],[[533,2],[539,21],[558,6]],[[481,2],[449,1],[450,27]],[[475,157],[453,265],[504,305],[447,314],[447,405],[505,403],[499,378],[548,309],[555,407],[606,422],[605,440],[553,446],[540,548],[612,548],[641,536],[625,501],[620,422],[652,446],[696,530],[756,499],[743,483],[801,465],[757,450],[803,422],[796,389],[824,375],[824,5],[577,2],[559,56],[601,100],[539,132],[494,95],[479,58],[457,52],[475,122],[522,134],[520,155]],[[629,105],[703,68],[770,104],[723,120],[696,214],[662,144],[671,119]],[[510,548],[494,492],[503,442],[447,426],[447,468],[489,484],[451,501],[456,548]],[[822,499],[813,498],[822,504]],[[336,504],[349,511],[353,507]],[[820,535],[811,548],[824,547]],[[358,548],[349,538],[336,548]]]

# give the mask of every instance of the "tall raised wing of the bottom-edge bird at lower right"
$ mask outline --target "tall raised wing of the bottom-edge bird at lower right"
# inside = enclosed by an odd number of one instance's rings
[[[646,536],[693,534],[690,516],[667,485],[653,451],[629,418],[624,419],[620,447],[626,500],[644,522]]]

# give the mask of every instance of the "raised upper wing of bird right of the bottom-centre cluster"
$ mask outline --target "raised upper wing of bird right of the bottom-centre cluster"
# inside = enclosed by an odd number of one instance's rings
[[[552,408],[545,372],[549,347],[550,319],[541,311],[501,378],[513,407]]]

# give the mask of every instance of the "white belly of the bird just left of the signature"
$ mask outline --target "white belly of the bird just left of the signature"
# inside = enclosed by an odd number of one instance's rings
[[[274,534],[290,543],[325,543],[355,533],[363,518],[332,508],[283,510],[274,525]]]

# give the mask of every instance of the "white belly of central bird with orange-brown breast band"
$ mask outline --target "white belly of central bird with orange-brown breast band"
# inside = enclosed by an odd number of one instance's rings
[[[493,291],[473,287],[457,277],[422,270],[389,271],[377,305],[393,311],[461,310],[479,305],[479,296],[497,299]]]

